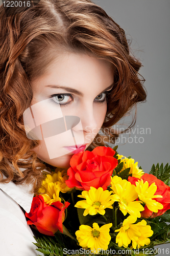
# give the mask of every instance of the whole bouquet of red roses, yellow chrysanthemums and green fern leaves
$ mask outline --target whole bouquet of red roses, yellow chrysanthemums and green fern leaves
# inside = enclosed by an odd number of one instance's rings
[[[170,166],[144,174],[117,146],[72,156],[70,168],[45,174],[28,224],[47,255],[155,255],[170,242]],[[64,225],[63,225],[64,222]],[[164,254],[169,254],[168,248]]]

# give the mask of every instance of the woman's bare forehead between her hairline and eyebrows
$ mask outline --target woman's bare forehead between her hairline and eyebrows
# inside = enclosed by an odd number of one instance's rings
[[[33,92],[70,88],[83,96],[96,87],[96,93],[101,93],[113,83],[113,70],[114,66],[106,60],[83,53],[62,53],[32,82]]]

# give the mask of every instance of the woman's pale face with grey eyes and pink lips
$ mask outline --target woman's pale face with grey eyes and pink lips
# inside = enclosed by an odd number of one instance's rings
[[[39,159],[68,167],[98,134],[113,87],[111,63],[87,54],[63,53],[32,82],[31,114],[41,133],[34,148]]]

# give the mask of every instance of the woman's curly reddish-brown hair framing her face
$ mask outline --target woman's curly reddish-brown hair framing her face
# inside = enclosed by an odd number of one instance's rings
[[[118,135],[110,127],[146,98],[138,74],[141,63],[130,55],[124,30],[90,0],[41,0],[6,10],[1,6],[0,38],[0,174],[6,176],[1,182],[33,182],[34,190],[41,184],[45,165],[33,151],[39,141],[26,136],[23,112],[32,101],[31,81],[44,73],[54,51],[88,53],[115,66],[102,126],[112,142]],[[96,138],[91,147],[103,144]]]

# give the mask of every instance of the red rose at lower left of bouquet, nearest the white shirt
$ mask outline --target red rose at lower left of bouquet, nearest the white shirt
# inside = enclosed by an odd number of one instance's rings
[[[35,225],[40,233],[47,236],[54,236],[58,229],[63,232],[64,210],[68,205],[68,202],[47,205],[41,195],[36,196],[33,198],[29,214],[26,212],[26,217],[30,219],[27,224]]]

